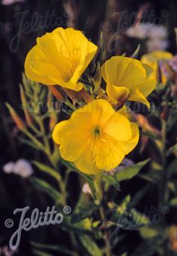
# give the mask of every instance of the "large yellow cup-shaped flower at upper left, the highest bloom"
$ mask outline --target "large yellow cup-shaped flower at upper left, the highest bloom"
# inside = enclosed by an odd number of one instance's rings
[[[83,84],[78,80],[97,49],[79,30],[55,29],[37,38],[37,44],[28,52],[26,76],[42,84],[81,90]]]

